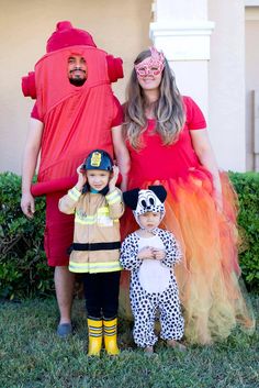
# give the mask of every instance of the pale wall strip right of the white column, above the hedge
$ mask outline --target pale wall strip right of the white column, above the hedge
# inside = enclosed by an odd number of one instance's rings
[[[246,170],[245,7],[243,0],[209,0],[215,22],[209,65],[209,123],[218,165]]]

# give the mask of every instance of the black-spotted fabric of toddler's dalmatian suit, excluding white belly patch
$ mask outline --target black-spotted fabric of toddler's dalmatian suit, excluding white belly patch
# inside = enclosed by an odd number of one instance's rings
[[[138,269],[142,260],[137,258],[139,237],[136,233],[130,234],[122,244],[120,262],[131,274],[131,306],[134,315],[133,336],[140,347],[153,346],[157,342],[154,331],[157,311],[160,315],[161,333],[164,340],[180,340],[184,331],[184,321],[181,314],[178,286],[173,274],[173,264],[181,259],[181,251],[174,236],[158,229],[166,257],[162,263],[170,271],[169,287],[161,293],[149,293],[143,289],[138,279]]]

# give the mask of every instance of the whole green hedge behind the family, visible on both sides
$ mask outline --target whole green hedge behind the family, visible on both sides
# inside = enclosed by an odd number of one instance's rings
[[[229,173],[238,193],[238,224],[245,240],[239,258],[246,285],[259,290],[259,174]],[[43,250],[45,199],[36,199],[36,215],[27,220],[20,208],[21,177],[0,174],[0,298],[53,293],[53,269]]]

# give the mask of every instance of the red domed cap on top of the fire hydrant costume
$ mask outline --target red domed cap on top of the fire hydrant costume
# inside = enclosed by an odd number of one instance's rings
[[[69,21],[64,21],[57,23],[56,31],[47,41],[46,51],[52,53],[77,45],[97,47],[92,36],[87,31],[75,29]]]

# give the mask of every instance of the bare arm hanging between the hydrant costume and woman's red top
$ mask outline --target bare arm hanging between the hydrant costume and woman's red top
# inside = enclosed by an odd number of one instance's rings
[[[121,189],[122,191],[125,191],[127,189],[127,175],[131,168],[131,157],[125,144],[121,125],[112,129],[112,140],[117,165],[122,174]]]

